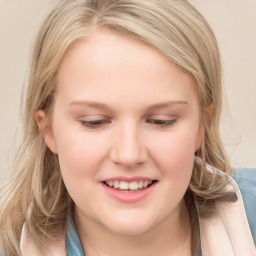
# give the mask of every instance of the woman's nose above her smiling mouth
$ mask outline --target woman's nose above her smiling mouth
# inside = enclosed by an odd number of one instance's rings
[[[120,127],[114,134],[111,160],[126,168],[132,168],[147,160],[143,136],[135,125]]]

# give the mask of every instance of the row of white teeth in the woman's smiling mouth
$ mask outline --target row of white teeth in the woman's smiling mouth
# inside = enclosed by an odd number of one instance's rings
[[[114,187],[116,189],[120,190],[138,190],[138,189],[143,189],[147,188],[149,185],[153,183],[152,180],[139,180],[139,181],[133,181],[133,182],[126,182],[126,181],[118,181],[118,180],[110,180],[106,181],[106,184],[109,187]]]

